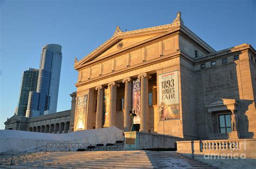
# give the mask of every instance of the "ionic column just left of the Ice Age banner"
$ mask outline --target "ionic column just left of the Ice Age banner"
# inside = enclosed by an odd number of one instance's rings
[[[125,83],[124,92],[124,131],[130,131],[131,129],[131,117],[129,115],[132,110],[132,81],[131,78],[123,79]]]

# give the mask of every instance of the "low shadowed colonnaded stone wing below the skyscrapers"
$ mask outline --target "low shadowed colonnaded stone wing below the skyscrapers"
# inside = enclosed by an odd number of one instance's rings
[[[46,114],[38,117],[12,116],[5,121],[5,130],[23,130],[42,133],[67,133],[73,131],[76,92],[70,94],[71,110]]]

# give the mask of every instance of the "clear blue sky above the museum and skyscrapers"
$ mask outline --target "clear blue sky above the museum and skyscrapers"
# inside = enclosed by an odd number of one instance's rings
[[[0,129],[15,112],[22,73],[39,68],[42,46],[62,45],[57,111],[71,107],[76,91],[76,56],[82,59],[124,31],[172,23],[181,11],[184,24],[215,50],[248,43],[256,49],[256,1],[29,1],[0,0]]]

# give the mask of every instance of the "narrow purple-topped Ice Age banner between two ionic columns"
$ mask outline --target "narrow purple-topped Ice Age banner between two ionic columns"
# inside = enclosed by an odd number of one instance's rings
[[[134,124],[140,124],[140,79],[132,81],[132,109],[137,114],[133,119]]]

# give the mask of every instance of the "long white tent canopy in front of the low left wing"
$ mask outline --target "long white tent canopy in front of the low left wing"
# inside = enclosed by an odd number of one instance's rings
[[[52,142],[106,145],[123,139],[123,130],[117,127],[81,130],[65,134],[0,130],[0,153],[22,152]]]

